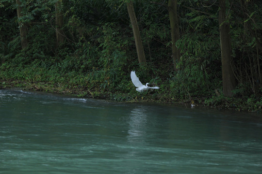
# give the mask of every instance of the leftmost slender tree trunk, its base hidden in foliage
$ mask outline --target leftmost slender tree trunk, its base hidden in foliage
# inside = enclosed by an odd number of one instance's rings
[[[18,20],[19,20],[19,18],[23,16],[23,14],[21,13],[22,12],[22,7],[21,7],[20,0],[16,0],[16,4],[18,5],[17,8],[16,8],[16,12],[17,12]],[[19,24],[21,45],[22,45],[22,49],[24,49],[28,45],[28,41],[27,41],[27,33],[28,33],[27,24],[26,23],[22,23],[21,21],[19,21],[18,24]]]

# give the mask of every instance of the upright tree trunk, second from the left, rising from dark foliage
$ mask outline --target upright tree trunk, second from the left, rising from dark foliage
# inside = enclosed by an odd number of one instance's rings
[[[64,16],[62,11],[62,0],[55,3],[55,29],[56,29],[56,46],[64,42],[64,32],[62,30],[64,25]]]

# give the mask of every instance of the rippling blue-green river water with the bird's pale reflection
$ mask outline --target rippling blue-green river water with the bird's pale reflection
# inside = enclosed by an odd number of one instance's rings
[[[262,174],[262,115],[0,90],[0,174]]]

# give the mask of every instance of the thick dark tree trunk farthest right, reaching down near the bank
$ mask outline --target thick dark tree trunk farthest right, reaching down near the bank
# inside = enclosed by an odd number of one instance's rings
[[[229,30],[229,23],[226,21],[226,0],[219,0],[219,32],[220,32],[220,47],[222,58],[222,81],[223,93],[227,97],[232,97],[232,90],[236,86],[236,78],[231,68],[232,51]]]

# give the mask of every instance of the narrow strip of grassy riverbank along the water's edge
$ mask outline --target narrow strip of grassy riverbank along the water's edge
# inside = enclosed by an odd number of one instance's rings
[[[63,84],[53,84],[51,82],[44,83],[29,83],[22,80],[3,80],[0,79],[0,89],[9,89],[18,87],[23,90],[31,91],[45,91],[58,94],[69,94],[77,97],[106,99],[118,102],[164,102],[184,105],[191,107],[193,103],[195,107],[205,107],[212,109],[227,109],[238,112],[257,112],[262,113],[262,101],[257,101],[252,98],[227,98],[223,95],[217,94],[216,96],[195,97],[189,99],[176,99],[172,98],[168,93],[158,93],[155,91],[147,91],[144,93],[121,93],[109,92],[103,90],[89,90],[84,87],[67,87]],[[135,88],[134,88],[135,89]]]

